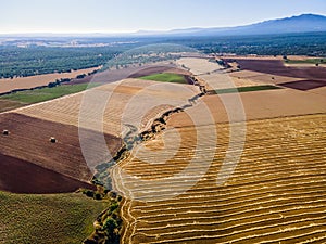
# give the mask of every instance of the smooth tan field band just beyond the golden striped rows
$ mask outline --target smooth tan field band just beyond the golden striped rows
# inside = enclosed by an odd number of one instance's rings
[[[240,93],[205,95],[201,98],[211,111],[216,123],[228,123],[228,113],[224,101],[229,106],[228,110],[239,110],[237,98],[241,99],[241,105],[248,120],[264,119],[273,117],[286,117],[306,114],[326,113],[326,98],[313,92],[303,92],[292,89],[276,89],[249,91]],[[204,112],[199,106],[188,108],[188,113],[202,116]],[[241,120],[241,118],[240,118]],[[187,115],[185,113],[177,114],[171,118],[175,127],[187,127]]]

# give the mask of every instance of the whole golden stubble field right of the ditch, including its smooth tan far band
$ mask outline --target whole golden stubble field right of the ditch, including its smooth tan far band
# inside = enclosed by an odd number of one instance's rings
[[[326,241],[325,97],[243,92],[246,118],[230,121],[231,95],[205,95],[172,115],[162,133],[113,168],[114,188],[126,196],[122,243]],[[205,116],[201,103],[214,123],[193,124]],[[237,153],[238,162],[227,156]],[[221,177],[227,180],[217,183]]]

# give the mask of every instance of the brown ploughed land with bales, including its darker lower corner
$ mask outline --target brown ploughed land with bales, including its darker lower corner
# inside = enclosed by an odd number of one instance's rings
[[[1,114],[0,126],[9,131],[0,137],[1,165],[8,168],[0,172],[1,190],[52,193],[93,188],[87,183],[92,174],[83,156],[77,127],[15,113]],[[95,133],[89,133],[90,139]],[[49,141],[51,137],[57,143]],[[121,139],[110,134],[105,139],[114,154],[121,147]],[[91,150],[100,154],[97,141]]]

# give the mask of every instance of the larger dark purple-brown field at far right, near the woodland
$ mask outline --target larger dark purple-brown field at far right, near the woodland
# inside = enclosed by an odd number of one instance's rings
[[[231,60],[228,60],[231,61]],[[325,80],[326,68],[323,67],[286,67],[280,60],[236,60],[241,69],[260,72],[277,76],[288,76],[312,80]]]

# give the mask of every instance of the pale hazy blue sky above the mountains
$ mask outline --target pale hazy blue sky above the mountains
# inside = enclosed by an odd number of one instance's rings
[[[0,0],[0,33],[121,33],[326,15],[326,0]]]

